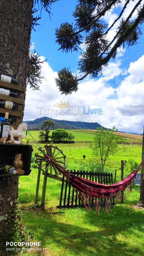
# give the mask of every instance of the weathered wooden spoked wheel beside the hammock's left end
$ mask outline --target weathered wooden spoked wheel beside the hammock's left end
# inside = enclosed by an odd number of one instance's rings
[[[44,153],[46,153],[52,160],[60,164],[61,166],[65,166],[65,158],[66,155],[63,154],[63,151],[58,149],[57,146],[52,146],[52,145],[44,145],[42,148]],[[47,174],[48,177],[55,178],[56,176],[59,176],[60,173],[57,170],[57,168],[50,162],[39,150],[38,153],[35,154],[36,164],[42,164],[41,170],[43,171],[43,174]],[[48,169],[50,172],[48,172]]]

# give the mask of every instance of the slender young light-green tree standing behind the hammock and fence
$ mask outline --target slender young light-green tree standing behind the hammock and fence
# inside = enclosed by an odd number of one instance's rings
[[[109,156],[114,155],[119,150],[118,142],[122,141],[122,136],[116,135],[116,131],[115,127],[112,130],[103,130],[102,127],[98,127],[94,142],[90,144],[94,155],[101,160],[102,172]]]

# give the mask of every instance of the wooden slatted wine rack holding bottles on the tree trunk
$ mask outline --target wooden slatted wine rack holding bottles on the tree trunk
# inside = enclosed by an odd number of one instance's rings
[[[24,104],[25,104],[25,91],[26,88],[15,85],[15,84],[10,84],[8,82],[0,81],[0,87],[3,87],[4,89],[8,90],[14,90],[18,92],[18,97],[11,97],[11,96],[6,96],[6,95],[0,95],[1,100],[6,100],[6,101],[12,101],[17,104],[17,110],[7,110],[6,108],[0,108],[0,114],[5,114],[6,112],[9,112],[9,115],[15,117],[15,125],[12,124],[14,129],[17,129],[19,124],[21,123],[22,119],[22,112],[24,109]]]

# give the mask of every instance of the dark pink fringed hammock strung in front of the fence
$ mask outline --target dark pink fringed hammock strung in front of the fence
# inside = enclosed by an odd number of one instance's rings
[[[131,172],[126,178],[124,178],[122,181],[119,181],[112,185],[105,185],[101,183],[97,183],[94,181],[87,180],[85,178],[75,176],[74,174],[69,173],[62,167],[61,165],[57,164],[55,161],[53,161],[47,154],[44,154],[44,156],[53,163],[53,165],[57,168],[59,172],[61,172],[65,178],[68,180],[68,182],[71,184],[71,186],[74,188],[74,191],[76,192],[77,196],[81,197],[82,203],[84,203],[86,208],[91,209],[90,207],[90,199],[92,197],[98,197],[98,198],[106,198],[106,204],[105,209],[106,212],[108,212],[108,209],[111,210],[111,201],[110,198],[113,196],[116,196],[117,194],[121,193],[123,190],[125,190],[127,187],[130,187],[132,184],[133,179],[137,175],[137,172],[140,169],[140,166],[143,164],[144,159],[140,163],[140,165],[137,167],[136,170]],[[82,193],[81,195],[78,195],[78,192]],[[100,200],[96,200],[95,202],[96,210],[100,209]]]

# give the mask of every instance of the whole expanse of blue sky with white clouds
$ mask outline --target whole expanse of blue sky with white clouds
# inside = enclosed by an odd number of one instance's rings
[[[125,1],[122,1],[121,6]],[[131,1],[129,9],[137,1]],[[43,10],[42,19],[38,22],[41,26],[36,26],[36,32],[32,31],[32,49],[36,49],[42,58],[47,58],[47,62],[42,67],[42,74],[46,80],[41,84],[41,92],[27,88],[26,106],[24,120],[32,120],[42,116],[49,116],[55,119],[66,119],[71,121],[98,122],[102,126],[112,128],[116,126],[118,130],[124,132],[143,132],[144,124],[144,34],[139,43],[129,49],[127,46],[118,51],[116,59],[111,59],[107,69],[103,70],[103,76],[96,79],[87,77],[79,84],[79,91],[72,95],[60,95],[55,86],[54,78],[57,72],[63,67],[70,67],[70,70],[78,73],[78,53],[63,53],[58,51],[58,44],[55,43],[55,28],[60,23],[68,21],[74,22],[73,11],[76,1],[59,0],[52,6],[51,20],[49,15]],[[40,12],[39,12],[40,14]],[[117,15],[117,10],[113,10],[105,15],[105,20],[111,25]],[[127,13],[124,14],[127,17]],[[136,15],[136,14],[135,14]],[[134,16],[135,17],[135,16]],[[142,28],[144,32],[144,28]],[[109,38],[113,36],[115,30],[111,30]],[[62,114],[55,117],[50,112],[39,112],[42,107],[50,110],[55,109],[53,105],[62,101],[70,102],[74,108],[90,106],[90,108],[102,108],[105,113],[102,115]],[[32,112],[30,113],[30,108]],[[56,110],[56,109],[55,109]]]

